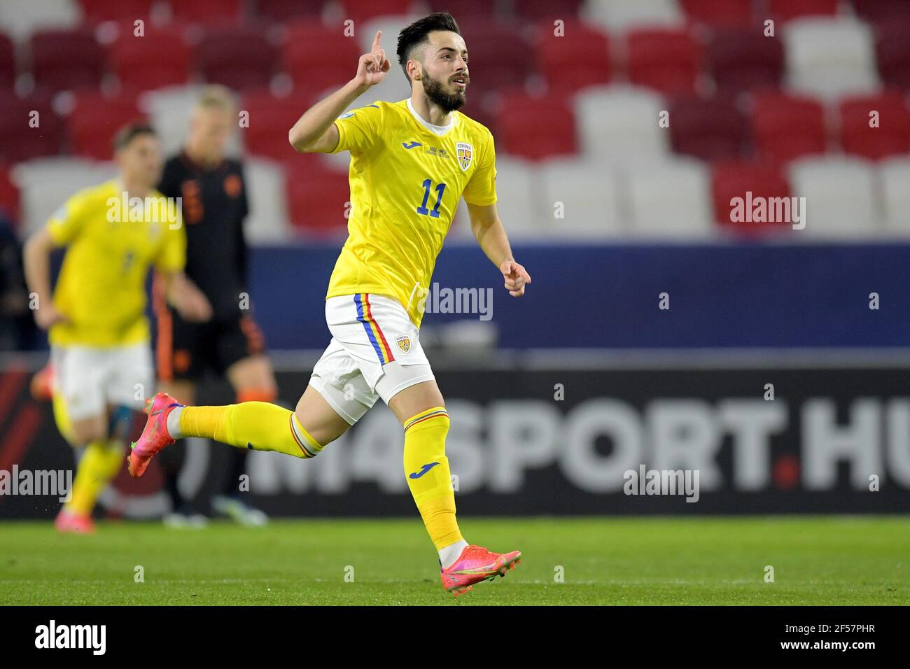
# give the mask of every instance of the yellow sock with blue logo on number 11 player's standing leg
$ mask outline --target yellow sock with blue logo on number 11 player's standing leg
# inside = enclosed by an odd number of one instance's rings
[[[446,434],[449,414],[445,407],[420,411],[404,423],[404,471],[420,517],[436,550],[462,541],[455,520]]]

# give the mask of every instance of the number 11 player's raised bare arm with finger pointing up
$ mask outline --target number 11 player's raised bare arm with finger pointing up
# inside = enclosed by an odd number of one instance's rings
[[[381,31],[377,31],[369,54],[360,56],[357,75],[309,107],[288,131],[288,142],[298,153],[331,153],[338,147],[340,135],[335,119],[371,86],[379,84],[391,67],[385,50],[379,46],[381,35]]]

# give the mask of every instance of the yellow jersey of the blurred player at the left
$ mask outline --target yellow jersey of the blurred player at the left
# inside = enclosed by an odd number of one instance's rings
[[[146,279],[154,265],[183,269],[187,237],[175,202],[152,191],[126,200],[116,180],[86,188],[47,222],[51,238],[66,246],[54,289],[54,306],[67,321],[52,326],[57,346],[126,346],[149,340]]]

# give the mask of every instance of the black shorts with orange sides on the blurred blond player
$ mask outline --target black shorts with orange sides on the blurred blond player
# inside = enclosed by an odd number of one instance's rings
[[[235,362],[265,352],[265,338],[251,316],[191,323],[174,309],[158,310],[159,380],[199,380],[206,370],[223,376]]]

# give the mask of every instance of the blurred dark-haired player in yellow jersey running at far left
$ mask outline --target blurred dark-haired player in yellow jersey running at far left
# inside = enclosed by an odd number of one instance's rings
[[[56,520],[62,532],[91,532],[98,494],[119,471],[133,412],[155,382],[146,278],[154,266],[187,319],[211,308],[183,275],[186,233],[179,208],[155,190],[162,159],[155,131],[123,128],[115,140],[119,177],[69,198],[25,245],[25,278],[48,330],[54,415],[67,441],[85,447],[72,497]],[[50,254],[65,247],[51,295]]]

